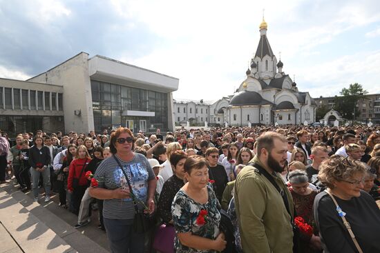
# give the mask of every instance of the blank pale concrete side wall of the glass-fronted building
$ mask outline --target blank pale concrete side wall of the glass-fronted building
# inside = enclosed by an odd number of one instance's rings
[[[66,131],[88,132],[94,129],[88,54],[81,52],[28,81],[64,86]],[[75,111],[79,110],[80,114],[75,115]]]

